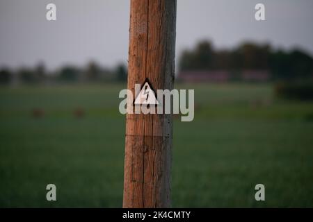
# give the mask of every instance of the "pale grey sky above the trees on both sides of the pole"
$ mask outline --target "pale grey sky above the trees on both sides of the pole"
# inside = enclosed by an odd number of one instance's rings
[[[45,18],[55,3],[57,21]],[[255,21],[264,3],[266,21]],[[198,40],[216,48],[244,40],[271,42],[313,54],[312,0],[177,0],[177,56]],[[112,67],[127,62],[129,0],[0,0],[0,66],[49,69],[95,60]]]

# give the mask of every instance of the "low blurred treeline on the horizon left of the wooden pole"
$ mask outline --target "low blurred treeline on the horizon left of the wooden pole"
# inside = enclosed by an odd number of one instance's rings
[[[65,65],[61,69],[49,71],[43,62],[35,67],[22,67],[17,70],[2,67],[0,69],[0,83],[2,85],[17,84],[62,84],[62,83],[102,83],[125,82],[127,67],[118,64],[113,68],[106,68],[96,62],[89,62],[86,67]]]

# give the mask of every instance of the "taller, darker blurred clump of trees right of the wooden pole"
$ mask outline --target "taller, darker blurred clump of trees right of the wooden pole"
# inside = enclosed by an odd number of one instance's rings
[[[271,80],[307,79],[313,75],[313,58],[301,49],[286,51],[253,42],[244,42],[234,49],[217,50],[211,42],[204,40],[194,49],[182,52],[179,70],[225,70],[232,75],[243,70],[265,70]]]

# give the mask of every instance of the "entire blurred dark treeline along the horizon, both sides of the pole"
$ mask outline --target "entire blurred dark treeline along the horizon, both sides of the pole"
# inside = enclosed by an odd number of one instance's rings
[[[188,78],[194,76],[193,71],[202,71],[204,75],[212,72],[227,72],[227,80],[236,78],[245,70],[264,71],[270,78],[266,80],[312,80],[313,58],[300,49],[286,51],[274,49],[270,44],[244,42],[234,49],[214,49],[211,42],[199,42],[194,49],[185,50],[179,56],[179,74],[187,72]],[[210,73],[211,72],[211,73]],[[185,80],[188,78],[185,78]],[[183,79],[183,78],[182,78]],[[0,67],[0,84],[58,84],[58,83],[102,83],[125,82],[127,66],[118,64],[113,68],[102,67],[96,62],[89,62],[84,67],[65,65],[60,69],[48,71],[43,62],[35,67],[9,69]]]

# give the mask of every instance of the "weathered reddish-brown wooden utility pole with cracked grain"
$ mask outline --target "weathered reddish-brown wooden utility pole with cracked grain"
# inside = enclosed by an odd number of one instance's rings
[[[128,89],[172,90],[176,0],[131,0]],[[159,98],[158,98],[159,100]],[[170,207],[172,114],[127,114],[123,207]]]

